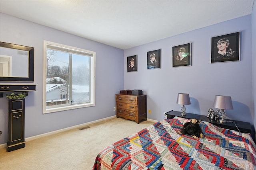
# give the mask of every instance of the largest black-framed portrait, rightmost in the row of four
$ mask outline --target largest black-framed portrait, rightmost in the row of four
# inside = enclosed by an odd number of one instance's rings
[[[211,63],[240,61],[240,32],[212,37]]]

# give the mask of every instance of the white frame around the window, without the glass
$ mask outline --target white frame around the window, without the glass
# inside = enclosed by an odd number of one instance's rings
[[[92,58],[91,58],[91,62],[90,62],[90,102],[82,103],[82,104],[72,104],[72,105],[68,105],[68,106],[60,106],[60,107],[54,107],[54,108],[46,107],[46,72],[47,72],[46,50],[47,50],[47,45],[61,47],[63,49],[68,49],[71,51],[80,51],[80,52],[92,54]],[[96,79],[95,68],[96,68],[96,52],[44,40],[43,114],[44,113],[52,113],[52,112],[56,112],[56,111],[64,111],[64,110],[77,109],[77,108],[82,108],[82,107],[95,106],[95,79]]]

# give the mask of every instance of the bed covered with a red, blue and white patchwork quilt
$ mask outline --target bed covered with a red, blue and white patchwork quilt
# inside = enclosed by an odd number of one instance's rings
[[[102,150],[93,170],[254,170],[256,145],[250,134],[201,121],[203,137],[178,131],[190,119],[158,121]]]

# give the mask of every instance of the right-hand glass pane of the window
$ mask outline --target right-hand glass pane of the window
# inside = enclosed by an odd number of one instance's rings
[[[72,104],[90,102],[90,57],[72,54]]]

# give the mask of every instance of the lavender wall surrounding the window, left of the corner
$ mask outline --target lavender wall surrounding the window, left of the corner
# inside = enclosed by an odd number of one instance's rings
[[[36,92],[29,92],[25,99],[25,138],[115,115],[115,94],[124,87],[124,68],[120,64],[124,63],[122,49],[5,14],[0,14],[0,23],[0,41],[34,47],[35,74],[32,84],[36,84]],[[96,106],[42,114],[44,40],[96,51]],[[5,97],[0,98],[0,131],[3,131],[0,144],[6,143],[8,101]]]

